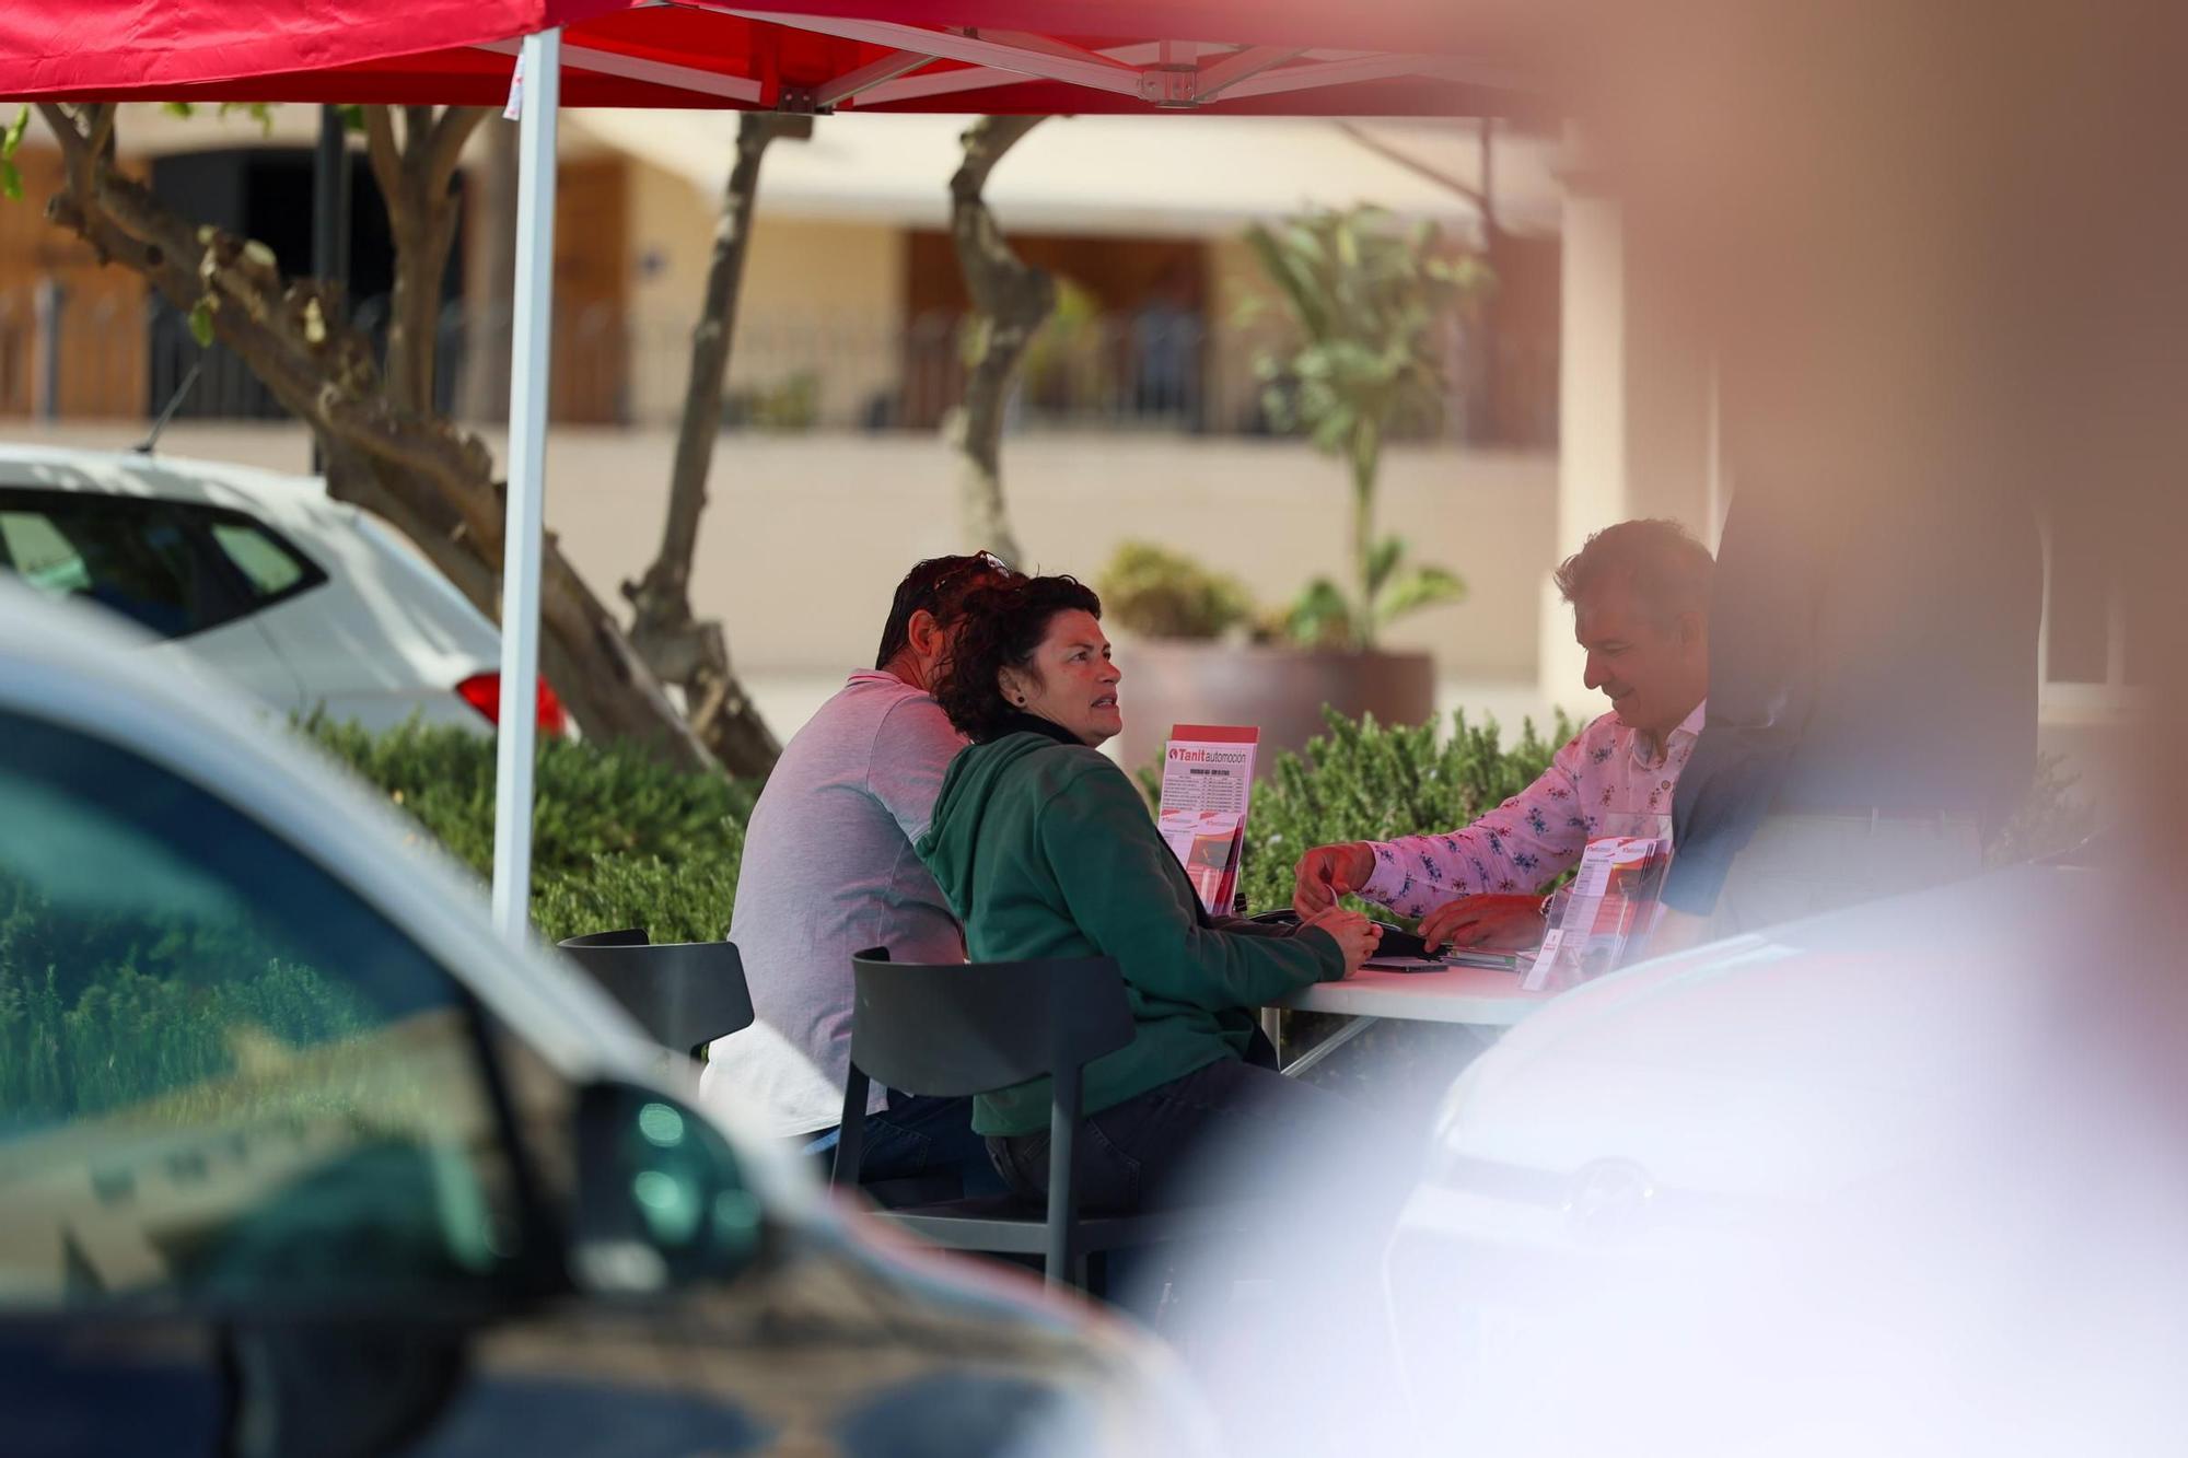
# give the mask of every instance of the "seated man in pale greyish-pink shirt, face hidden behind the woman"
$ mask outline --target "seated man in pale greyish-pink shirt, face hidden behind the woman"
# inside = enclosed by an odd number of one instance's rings
[[[853,952],[965,959],[965,933],[912,854],[965,744],[928,690],[965,595],[1009,571],[987,552],[912,567],[875,670],[851,674],[799,729],[753,806],[729,939],[759,1020],[713,1044],[702,1086],[781,1138],[814,1143],[842,1116]],[[866,1114],[866,1180],[958,1173],[967,1193],[1002,1189],[969,1099],[875,1086]]]

